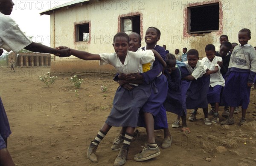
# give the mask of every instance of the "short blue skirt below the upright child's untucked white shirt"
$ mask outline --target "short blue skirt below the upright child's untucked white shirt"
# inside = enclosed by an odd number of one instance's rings
[[[220,103],[221,99],[221,89],[223,86],[215,85],[214,87],[210,86],[207,93],[208,103]]]

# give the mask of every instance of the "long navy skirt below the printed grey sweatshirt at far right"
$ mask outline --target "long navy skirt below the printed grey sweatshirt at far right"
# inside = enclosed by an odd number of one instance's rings
[[[250,103],[250,87],[247,86],[248,77],[249,73],[230,72],[222,93],[225,106],[248,108]]]

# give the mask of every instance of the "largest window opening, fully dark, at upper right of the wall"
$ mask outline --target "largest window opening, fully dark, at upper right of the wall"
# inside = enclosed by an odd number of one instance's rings
[[[219,3],[188,8],[189,33],[210,33],[219,30]]]

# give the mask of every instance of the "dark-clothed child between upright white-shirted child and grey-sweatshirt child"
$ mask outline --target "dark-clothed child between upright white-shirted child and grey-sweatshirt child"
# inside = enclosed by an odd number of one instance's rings
[[[228,42],[228,41],[225,41],[221,45],[221,48],[219,50],[219,54],[217,54],[217,52],[215,54],[217,57],[222,58],[222,61],[218,61],[217,64],[221,67],[221,74],[222,74],[222,77],[224,78],[224,80],[225,80],[225,75],[227,73],[227,69],[228,69],[228,66],[229,66],[229,63],[230,63],[231,54],[229,53],[229,51],[230,51],[231,47],[232,47],[231,43]],[[214,105],[211,105],[211,106],[212,106],[212,109],[209,111],[209,114],[214,114],[214,112],[215,112]],[[225,117],[225,118],[227,118],[229,116],[228,106],[224,107],[224,112],[222,113],[221,116]]]

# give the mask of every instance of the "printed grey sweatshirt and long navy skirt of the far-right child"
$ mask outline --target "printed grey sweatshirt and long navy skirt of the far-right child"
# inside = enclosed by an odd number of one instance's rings
[[[225,105],[242,106],[247,109],[250,103],[250,87],[256,74],[256,51],[249,45],[236,46],[230,57],[222,99]]]

